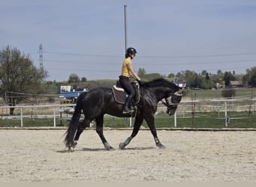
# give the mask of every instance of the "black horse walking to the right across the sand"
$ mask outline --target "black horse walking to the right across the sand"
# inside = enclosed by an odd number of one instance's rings
[[[144,82],[139,89],[141,98],[135,105],[135,122],[132,135],[130,135],[124,143],[121,143],[119,148],[123,150],[132,138],[137,135],[143,120],[146,120],[147,126],[149,126],[156,142],[156,146],[165,148],[156,135],[154,114],[156,113],[157,103],[162,99],[167,101],[167,99],[171,97],[172,105],[169,105],[166,102],[164,103],[168,107],[168,114],[174,114],[177,109],[177,103],[181,100],[182,92],[183,89],[162,78],[155,79],[151,82]],[[73,151],[81,133],[90,125],[92,120],[96,120],[97,134],[100,136],[106,150],[112,150],[113,147],[109,145],[103,135],[103,117],[104,114],[110,114],[117,117],[129,117],[130,114],[122,114],[123,107],[123,104],[115,102],[112,88],[95,88],[88,93],[82,93],[76,102],[76,109],[66,132],[66,137],[64,139],[66,147],[68,147],[70,151]],[[79,123],[82,111],[85,114],[85,119],[82,123]]]

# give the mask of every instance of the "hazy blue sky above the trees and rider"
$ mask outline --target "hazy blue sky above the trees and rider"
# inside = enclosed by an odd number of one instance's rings
[[[146,73],[246,73],[256,66],[255,0],[1,0],[0,47],[29,54],[48,80],[118,79],[127,43]]]

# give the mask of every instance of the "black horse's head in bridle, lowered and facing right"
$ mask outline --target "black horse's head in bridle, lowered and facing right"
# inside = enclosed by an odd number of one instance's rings
[[[175,111],[177,110],[177,105],[181,101],[183,91],[184,89],[174,92],[171,96],[165,98],[165,102],[162,102],[167,107],[167,114],[175,114]]]

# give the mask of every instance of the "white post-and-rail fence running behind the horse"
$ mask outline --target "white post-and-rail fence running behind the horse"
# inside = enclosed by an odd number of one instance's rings
[[[217,111],[225,114],[225,126],[229,123],[229,111],[249,111],[255,114],[256,99],[203,99],[203,100],[184,100],[178,105],[177,111],[174,114],[174,127],[177,127],[177,117],[185,117],[186,114],[195,112]],[[52,126],[58,126],[56,120],[70,119],[75,105],[16,105],[15,115],[10,116],[10,106],[0,106],[0,117],[4,119],[18,119],[20,126],[23,126],[25,117],[31,118],[49,118],[52,119]],[[165,112],[165,106],[159,104],[158,113]],[[129,118],[129,126],[132,126],[132,119]]]

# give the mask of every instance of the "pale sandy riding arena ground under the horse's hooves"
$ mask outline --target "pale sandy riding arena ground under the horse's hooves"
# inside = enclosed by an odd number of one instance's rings
[[[165,150],[141,130],[118,150],[131,130],[105,130],[115,150],[104,150],[89,129],[75,152],[64,147],[64,129],[0,129],[1,182],[256,182],[256,132],[159,130]]]

